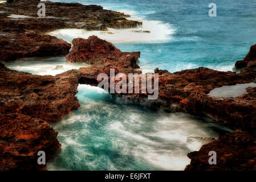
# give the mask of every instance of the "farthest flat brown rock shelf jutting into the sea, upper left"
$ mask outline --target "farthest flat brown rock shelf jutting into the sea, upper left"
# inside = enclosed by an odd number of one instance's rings
[[[3,11],[9,14],[26,15],[30,17],[37,17],[39,10],[38,3],[40,1],[25,1],[15,0],[13,2],[2,5]],[[123,13],[117,11],[104,10],[101,6],[96,5],[82,5],[80,3],[60,3],[43,1],[46,6],[46,16],[51,18],[29,18],[22,19],[20,22],[23,25],[31,27],[33,24],[34,30],[41,32],[55,30],[56,28],[83,28],[86,30],[106,30],[109,28],[132,28],[141,26],[142,22],[127,20]],[[5,19],[7,22],[15,23],[13,20]],[[30,21],[27,24],[27,21]],[[40,25],[43,23],[44,26]],[[1,23],[0,23],[1,24]],[[24,27],[24,28],[28,28]],[[39,29],[42,28],[42,29]]]

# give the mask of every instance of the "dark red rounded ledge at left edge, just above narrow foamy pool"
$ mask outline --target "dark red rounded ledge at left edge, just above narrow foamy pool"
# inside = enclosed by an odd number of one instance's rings
[[[0,36],[0,61],[23,57],[66,55],[71,44],[50,35],[11,34]]]

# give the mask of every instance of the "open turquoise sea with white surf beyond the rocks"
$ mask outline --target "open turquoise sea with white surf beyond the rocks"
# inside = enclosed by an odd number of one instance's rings
[[[60,0],[54,0],[60,1]],[[76,2],[62,0],[62,2]],[[141,51],[140,67],[152,72],[156,67],[170,72],[208,67],[231,71],[256,43],[256,1],[254,0],[80,0],[85,5],[101,5],[142,21],[141,30],[106,32],[59,30],[54,35],[72,41],[96,34],[115,44],[121,51]],[[209,17],[209,3],[216,3],[217,17]],[[139,28],[138,28],[139,30]]]

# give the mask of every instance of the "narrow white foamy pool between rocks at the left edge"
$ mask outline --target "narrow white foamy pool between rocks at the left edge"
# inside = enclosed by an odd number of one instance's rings
[[[9,69],[29,72],[35,75],[55,76],[70,69],[79,69],[81,67],[88,67],[89,65],[83,63],[67,63],[65,57],[31,57],[5,63],[5,66]]]

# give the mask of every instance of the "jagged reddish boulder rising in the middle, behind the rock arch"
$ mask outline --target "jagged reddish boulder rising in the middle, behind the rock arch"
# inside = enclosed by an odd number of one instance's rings
[[[67,62],[87,63],[93,67],[125,68],[124,73],[133,73],[139,68],[137,65],[140,52],[121,52],[113,44],[105,40],[90,36],[88,39],[74,39],[72,50],[66,57]]]

